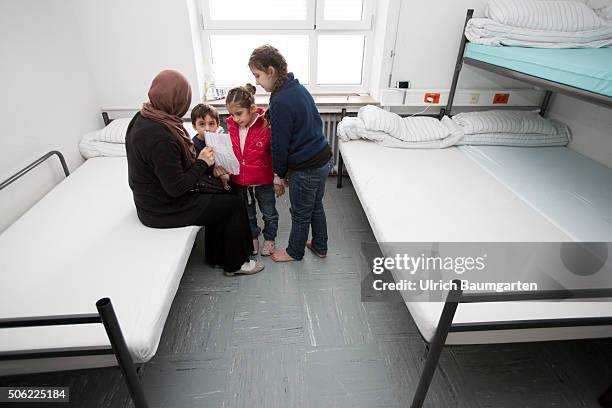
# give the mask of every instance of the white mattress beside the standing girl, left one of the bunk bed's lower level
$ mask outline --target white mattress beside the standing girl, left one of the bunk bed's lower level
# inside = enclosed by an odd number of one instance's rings
[[[527,150],[527,149],[525,149]],[[570,235],[458,148],[389,149],[341,142],[340,151],[378,242],[563,242]],[[402,279],[395,271],[394,278]],[[443,304],[407,302],[431,341]],[[454,322],[610,316],[606,302],[461,304]],[[447,344],[612,336],[611,327],[451,333]]]

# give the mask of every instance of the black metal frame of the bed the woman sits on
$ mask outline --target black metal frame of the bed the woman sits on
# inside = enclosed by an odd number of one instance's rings
[[[48,158],[56,155],[64,170],[66,177],[70,175],[64,155],[53,150],[35,160],[28,166],[24,167],[2,183],[0,190],[12,184],[31,170],[45,162]],[[96,302],[98,313],[91,314],[74,314],[61,316],[37,316],[37,317],[18,317],[10,319],[0,319],[0,329],[18,328],[18,327],[42,327],[42,326],[65,326],[75,324],[93,324],[101,323],[104,325],[111,347],[100,348],[81,348],[81,349],[43,349],[43,350],[24,350],[19,352],[0,352],[0,361],[28,360],[28,359],[45,359],[58,357],[82,357],[82,356],[100,356],[114,354],[117,359],[121,373],[127,385],[132,402],[136,408],[147,408],[149,405],[144,395],[142,385],[138,379],[140,366],[136,367],[130,352],[125,343],[125,338],[117,315],[113,308],[113,304],[109,298],[102,298]]]

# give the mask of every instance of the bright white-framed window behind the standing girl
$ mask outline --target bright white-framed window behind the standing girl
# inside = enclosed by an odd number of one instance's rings
[[[254,82],[255,47],[278,48],[311,92],[366,92],[373,0],[201,0],[216,85]]]

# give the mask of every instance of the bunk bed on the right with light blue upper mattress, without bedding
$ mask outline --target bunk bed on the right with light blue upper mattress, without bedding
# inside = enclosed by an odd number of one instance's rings
[[[466,23],[472,14],[468,10]],[[588,55],[577,62],[585,63],[583,70],[561,73],[553,69],[563,66],[556,58],[567,63],[572,53],[566,51],[573,50],[483,48],[466,42],[462,34],[448,104],[440,117],[452,113],[464,63],[545,89],[541,115],[554,92],[612,107],[612,64],[607,62],[611,49],[577,50]],[[521,62],[521,57],[527,60]],[[590,65],[597,61],[603,65]],[[580,74],[589,69],[601,75],[581,80]],[[559,74],[552,75],[555,71]],[[612,241],[612,170],[566,147],[417,151],[341,142],[339,188],[343,164],[379,243]],[[384,175],[372,169],[384,169]],[[394,186],[394,198],[381,200],[388,196],[389,185]],[[393,271],[393,278],[403,277]],[[592,289],[502,294],[451,290],[445,302],[430,303],[405,297],[429,345],[411,406],[424,403],[445,345],[612,337],[607,302],[612,288]],[[564,299],[582,300],[558,302]],[[609,398],[604,394],[600,401],[609,403]]]

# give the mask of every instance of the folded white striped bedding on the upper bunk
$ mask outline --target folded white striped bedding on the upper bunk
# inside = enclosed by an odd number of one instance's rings
[[[468,21],[470,42],[536,48],[612,45],[612,22],[577,1],[491,0],[485,17]]]

